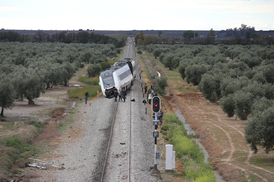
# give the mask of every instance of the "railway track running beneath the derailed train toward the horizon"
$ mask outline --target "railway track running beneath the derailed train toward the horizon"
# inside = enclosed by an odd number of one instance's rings
[[[132,44],[133,44],[133,41],[131,39],[130,42],[129,42],[128,52],[127,52],[126,58],[131,58],[132,59]],[[129,52],[130,52],[130,54],[129,54]],[[111,147],[112,147],[111,145],[114,143],[114,141],[112,141],[112,140],[114,140],[113,136],[115,135],[116,138],[117,138],[117,134],[119,135],[119,134],[123,133],[123,132],[120,133],[119,131],[117,131],[116,127],[115,127],[115,124],[119,125],[119,122],[121,123],[121,119],[117,118],[117,116],[116,116],[117,112],[119,110],[118,105],[120,105],[120,104],[121,104],[120,107],[122,108],[122,110],[125,109],[126,107],[129,109],[129,112],[128,112],[129,113],[129,119],[128,119],[128,122],[123,123],[123,124],[126,125],[127,130],[128,130],[128,132],[126,132],[127,136],[121,136],[121,138],[126,137],[127,141],[128,141],[128,145],[127,145],[128,149],[127,149],[127,152],[126,152],[126,155],[127,155],[127,167],[126,167],[127,173],[126,174],[127,174],[127,176],[124,175],[123,177],[121,177],[121,178],[119,177],[119,178],[121,180],[122,179],[127,179],[128,182],[133,181],[133,180],[130,180],[130,172],[129,172],[130,171],[130,147],[131,147],[131,143],[130,143],[130,140],[131,140],[131,138],[130,138],[130,136],[131,136],[131,101],[130,100],[131,100],[131,91],[129,90],[129,99],[127,98],[127,103],[129,103],[129,107],[127,107],[124,103],[120,103],[119,101],[115,105],[114,116],[113,116],[113,120],[112,120],[112,124],[111,124],[110,136],[109,136],[109,141],[108,141],[108,145],[107,145],[107,150],[106,150],[106,155],[105,155],[105,159],[104,159],[104,164],[103,164],[103,169],[102,169],[100,182],[112,181],[112,180],[117,181],[117,179],[110,179],[110,178],[114,178],[114,176],[113,175],[108,176],[106,174],[106,170],[109,170],[108,167],[111,168],[111,165],[109,165],[108,162],[107,162],[108,160],[113,158],[113,156],[111,156],[111,153],[116,152],[116,151],[113,151],[111,149]],[[124,104],[124,105],[122,105],[122,104]],[[126,129],[123,129],[123,130],[126,130]],[[123,133],[123,134],[125,135],[126,133]],[[116,153],[118,153],[118,152],[116,152]],[[117,155],[119,156],[120,154],[117,154]],[[125,167],[123,167],[123,168],[125,168]]]

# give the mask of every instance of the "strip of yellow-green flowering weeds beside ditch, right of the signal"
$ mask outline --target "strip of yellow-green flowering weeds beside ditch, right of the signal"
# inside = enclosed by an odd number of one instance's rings
[[[165,138],[170,140],[176,151],[176,157],[184,162],[185,171],[183,174],[191,182],[215,182],[210,164],[204,163],[204,154],[191,136],[187,135],[181,120],[174,113],[165,113],[163,116],[164,125],[161,126],[161,133],[168,132]]]

